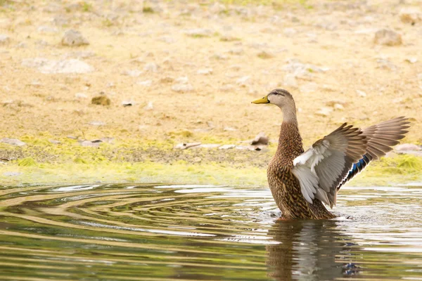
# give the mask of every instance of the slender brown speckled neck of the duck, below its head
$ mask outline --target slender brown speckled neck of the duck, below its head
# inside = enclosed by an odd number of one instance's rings
[[[296,112],[283,110],[283,123],[281,124],[279,147],[276,157],[281,159],[283,164],[291,165],[293,159],[303,153],[302,137],[298,128]]]

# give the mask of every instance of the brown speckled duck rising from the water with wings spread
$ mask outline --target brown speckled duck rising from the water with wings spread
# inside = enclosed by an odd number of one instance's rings
[[[383,157],[404,138],[409,119],[397,117],[359,129],[342,124],[308,150],[303,149],[293,96],[274,89],[255,104],[281,109],[279,145],[267,169],[269,189],[281,210],[281,219],[330,219],[340,188]]]

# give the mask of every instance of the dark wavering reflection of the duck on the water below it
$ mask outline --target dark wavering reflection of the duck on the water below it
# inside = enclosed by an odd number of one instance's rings
[[[335,280],[359,273],[350,254],[356,244],[336,221],[277,221],[268,234],[279,242],[267,246],[275,280]]]

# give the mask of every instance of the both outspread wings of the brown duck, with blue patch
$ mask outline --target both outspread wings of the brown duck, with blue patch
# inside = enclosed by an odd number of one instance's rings
[[[293,160],[293,174],[307,202],[317,198],[333,207],[338,189],[373,159],[392,150],[404,138],[409,122],[398,117],[364,130],[347,124],[316,141]]]

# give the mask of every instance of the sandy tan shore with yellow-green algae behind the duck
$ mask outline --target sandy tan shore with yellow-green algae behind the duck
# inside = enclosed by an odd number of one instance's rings
[[[278,87],[305,146],[402,115],[421,144],[422,17],[402,11],[416,1],[241,2],[0,1],[0,139],[25,143],[0,143],[0,181],[265,185],[281,113],[250,101]],[[260,132],[261,151],[174,149]],[[420,180],[420,157],[390,156],[357,183]]]

